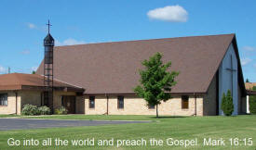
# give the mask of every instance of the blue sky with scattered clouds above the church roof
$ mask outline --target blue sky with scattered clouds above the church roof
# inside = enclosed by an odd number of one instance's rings
[[[47,19],[58,45],[236,33],[244,78],[256,81],[255,0],[1,0],[0,73],[31,73]]]

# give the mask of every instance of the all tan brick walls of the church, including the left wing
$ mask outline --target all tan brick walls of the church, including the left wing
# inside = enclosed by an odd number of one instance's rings
[[[167,102],[158,106],[159,115],[171,116],[210,116],[216,115],[216,77],[209,85],[205,95],[190,95],[189,108],[182,109],[182,95],[173,96]],[[2,92],[4,93],[4,92]],[[31,104],[41,106],[43,94],[41,91],[6,92],[7,106],[0,106],[0,114],[20,114],[22,106]],[[61,106],[62,95],[75,95],[74,92],[54,92],[54,109]],[[16,98],[17,97],[17,98]],[[117,108],[117,95],[95,95],[95,107],[89,108],[88,95],[76,96],[75,113],[86,115],[155,115],[155,108],[149,108],[146,102],[136,95],[124,96],[124,108]],[[16,105],[17,103],[17,105]],[[245,100],[239,99],[241,111],[245,111]],[[17,106],[17,108],[16,108]]]

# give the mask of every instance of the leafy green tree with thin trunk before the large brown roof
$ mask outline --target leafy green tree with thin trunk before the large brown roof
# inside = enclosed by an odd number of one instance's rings
[[[156,106],[156,118],[158,118],[158,105],[161,101],[166,102],[171,98],[171,87],[176,84],[175,77],[179,74],[176,71],[168,71],[171,62],[163,64],[161,58],[162,55],[156,53],[149,60],[142,62],[145,69],[140,70],[141,85],[134,89],[134,92],[142,97],[148,106]]]

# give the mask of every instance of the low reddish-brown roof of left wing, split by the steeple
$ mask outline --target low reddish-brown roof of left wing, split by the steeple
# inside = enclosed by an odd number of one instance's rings
[[[53,81],[56,90],[84,92],[80,87]],[[4,90],[44,90],[44,77],[38,74],[10,73],[0,75],[0,91]]]

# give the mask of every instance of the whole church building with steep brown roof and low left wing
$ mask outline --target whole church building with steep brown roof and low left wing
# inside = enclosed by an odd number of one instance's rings
[[[236,35],[222,34],[53,46],[52,102],[44,100],[49,96],[44,81],[50,77],[46,74],[45,57],[36,74],[30,75],[36,77],[38,84],[26,74],[0,75],[0,114],[20,114],[26,103],[50,103],[53,109],[65,106],[71,114],[155,115],[155,106],[147,106],[133,89],[139,84],[141,62],[156,52],[163,55],[164,62],[171,61],[170,70],[180,72],[170,92],[172,98],[158,106],[159,115],[223,115],[222,94],[228,90],[233,96],[233,115],[247,112]],[[9,76],[19,79],[7,81]],[[29,88],[7,88],[24,78],[28,81],[23,82],[31,84]],[[20,101],[15,103],[15,97]]]

